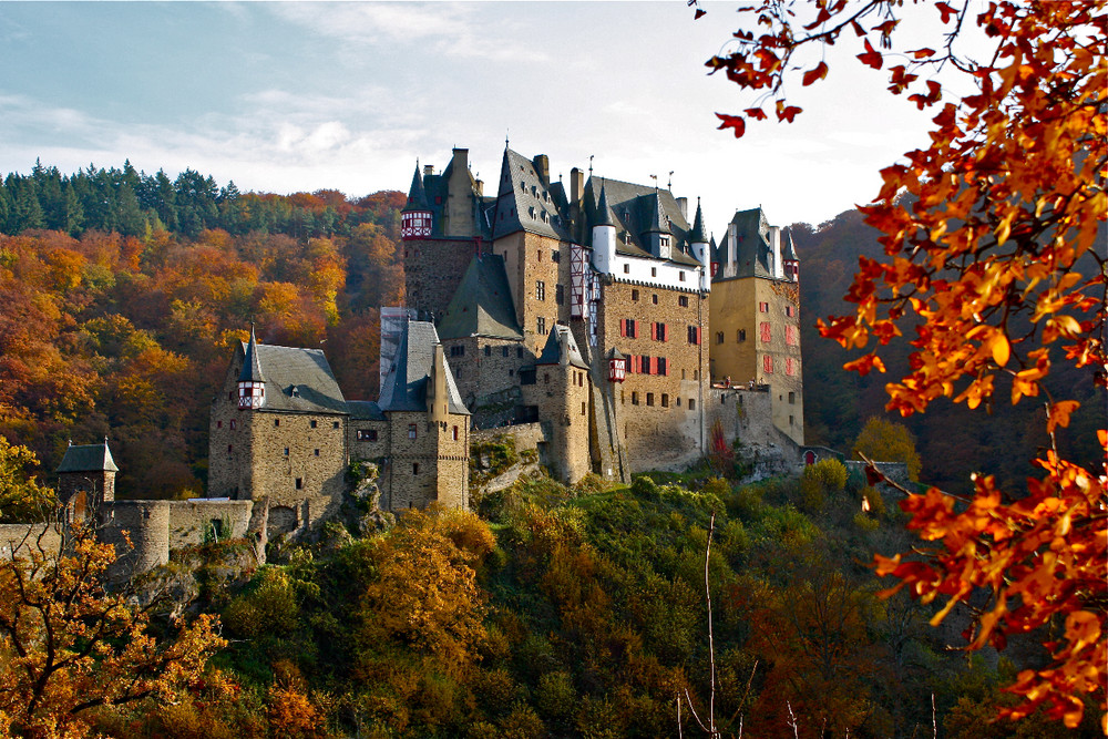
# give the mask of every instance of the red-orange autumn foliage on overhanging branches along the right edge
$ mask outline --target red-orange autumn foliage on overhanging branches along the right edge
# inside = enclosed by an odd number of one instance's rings
[[[885,69],[893,94],[938,111],[930,146],[883,170],[876,202],[861,208],[882,234],[884,258],[860,257],[847,295],[854,311],[820,330],[865,349],[847,365],[864,374],[884,371],[880,347],[913,322],[910,371],[886,386],[888,408],[904,415],[943,397],[987,407],[1001,378],[1013,403],[1045,398],[1051,447],[1027,490],[1005,494],[976,476],[964,502],[935,489],[909,496],[909,525],[932,544],[922,556],[878,557],[876,568],[925,602],[945,598],[933,623],[987,592],[972,648],[1058,627],[1045,645],[1050,665],[1018,675],[1008,689],[1024,700],[1006,714],[1045,707],[1074,727],[1085,696],[1105,708],[1108,495],[1101,471],[1058,454],[1055,434],[1078,401],[1051,394],[1044,380],[1068,365],[1095,373],[1104,390],[1108,17],[1104,0],[992,0],[977,14],[968,2],[915,4],[944,25],[932,47],[894,45],[901,0],[740,9],[749,27],[708,66],[760,97],[745,115],[719,114],[720,127],[740,136],[748,119],[769,117],[767,107],[792,121],[801,110],[788,103],[786,82],[825,79],[827,62],[807,53],[851,38],[863,64]],[[987,40],[985,55],[958,51],[970,29]],[[952,78],[972,94],[951,94]],[[1098,443],[1108,445],[1104,430]],[[1102,725],[1108,732],[1108,716]]]

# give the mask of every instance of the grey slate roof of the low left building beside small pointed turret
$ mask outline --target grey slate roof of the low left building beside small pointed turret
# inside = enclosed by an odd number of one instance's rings
[[[243,352],[248,345],[242,345]],[[327,357],[319,349],[255,347],[266,377],[266,402],[261,410],[300,413],[346,413],[347,403]]]

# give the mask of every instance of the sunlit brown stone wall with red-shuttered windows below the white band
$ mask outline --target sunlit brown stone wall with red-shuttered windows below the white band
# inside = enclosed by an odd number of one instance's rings
[[[655,302],[657,296],[657,302]],[[680,298],[686,298],[686,306]],[[636,336],[620,336],[620,321],[636,321]],[[652,339],[652,324],[665,324],[667,340]],[[701,343],[689,341],[699,327]],[[679,466],[701,452],[704,415],[700,379],[708,366],[708,300],[699,292],[627,283],[602,286],[599,348],[623,355],[665,357],[668,374],[628,373],[612,388],[615,425],[633,471]],[[628,360],[630,362],[630,360]]]

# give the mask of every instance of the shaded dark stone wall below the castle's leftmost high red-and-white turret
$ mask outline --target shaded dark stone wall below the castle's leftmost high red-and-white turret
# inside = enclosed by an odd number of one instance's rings
[[[404,302],[438,320],[479,248],[472,238],[404,242]]]

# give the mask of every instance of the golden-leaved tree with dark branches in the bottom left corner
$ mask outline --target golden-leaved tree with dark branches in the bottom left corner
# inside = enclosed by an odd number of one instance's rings
[[[224,645],[202,615],[158,639],[145,612],[106,592],[114,547],[76,530],[64,550],[28,535],[0,562],[0,733],[82,737],[90,710],[168,698]]]

